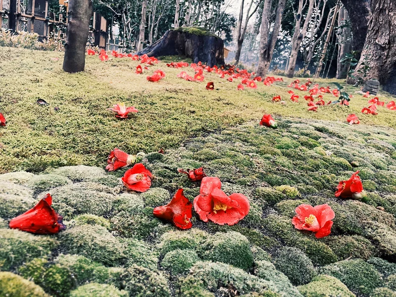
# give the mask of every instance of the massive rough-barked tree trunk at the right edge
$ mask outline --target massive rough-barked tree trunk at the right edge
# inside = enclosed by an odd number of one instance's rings
[[[396,94],[396,3],[394,0],[371,0],[371,16],[364,48],[354,72],[364,81],[378,79],[384,90]],[[369,67],[367,76],[362,72]]]

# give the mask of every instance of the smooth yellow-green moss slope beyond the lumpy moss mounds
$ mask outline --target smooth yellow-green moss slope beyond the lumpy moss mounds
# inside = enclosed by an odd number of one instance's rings
[[[53,58],[59,60],[53,60]],[[62,53],[1,48],[0,112],[8,123],[0,129],[0,173],[14,170],[41,171],[47,167],[103,165],[114,147],[130,153],[177,147],[189,137],[258,120],[264,112],[283,117],[345,121],[348,113],[359,115],[362,124],[396,127],[395,112],[380,107],[378,116],[360,113],[367,99],[354,94],[349,109],[325,106],[307,112],[306,103],[287,100],[282,106],[271,102],[279,94],[290,98],[285,83],[257,90],[237,91],[233,83],[216,74],[206,74],[203,83],[187,82],[176,75],[191,68],[173,69],[160,62],[151,66],[166,73],[159,83],[135,74],[138,62],[129,58],[100,62],[87,57],[86,71],[67,74],[61,69]],[[208,81],[216,91],[205,90]],[[318,80],[327,86],[331,81]],[[357,91],[349,88],[349,92]],[[302,98],[306,92],[298,92]],[[40,106],[42,98],[49,106]],[[330,94],[325,101],[334,99]],[[389,97],[382,100],[388,102]],[[134,105],[140,112],[118,120],[106,110],[118,101]],[[53,107],[58,106],[59,111]]]

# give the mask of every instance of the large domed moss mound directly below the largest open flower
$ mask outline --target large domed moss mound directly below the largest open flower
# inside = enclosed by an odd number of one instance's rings
[[[253,264],[249,241],[241,233],[217,232],[206,239],[202,246],[202,258],[231,264],[244,270]]]

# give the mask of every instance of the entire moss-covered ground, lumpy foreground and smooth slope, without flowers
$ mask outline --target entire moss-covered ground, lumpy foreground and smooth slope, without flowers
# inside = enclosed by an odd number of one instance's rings
[[[367,99],[350,88],[350,109],[308,113],[303,99],[271,102],[274,94],[290,97],[290,81],[237,92],[237,83],[208,74],[219,89],[210,92],[203,83],[176,79],[186,69],[161,62],[149,70],[166,72],[159,83],[136,75],[130,59],[89,57],[85,73],[67,75],[51,60],[56,55],[0,51],[1,67],[9,69],[0,76],[8,119],[0,129],[0,296],[395,296],[392,111],[362,115]],[[37,105],[38,98],[50,105]],[[119,100],[140,113],[115,119],[105,108]],[[258,125],[264,111],[274,114],[278,129]],[[360,125],[345,122],[351,112]],[[155,176],[150,190],[127,191],[120,182],[126,168],[104,171],[114,147],[147,153],[143,163]],[[156,152],[162,147],[165,154]],[[199,182],[177,168],[200,166],[221,179],[227,194],[249,198],[250,212],[237,225],[203,223],[193,214],[193,228],[180,231],[153,217],[153,207],[179,187],[190,200],[198,195]],[[367,197],[335,198],[338,182],[356,170]],[[11,218],[47,193],[65,231],[38,236],[8,229]],[[330,236],[316,239],[294,228],[301,203],[333,208]]]

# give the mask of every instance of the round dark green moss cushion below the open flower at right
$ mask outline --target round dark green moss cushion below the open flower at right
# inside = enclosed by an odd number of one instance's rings
[[[273,263],[276,269],[282,271],[295,286],[307,284],[316,276],[312,261],[295,247],[281,248],[274,257]]]

